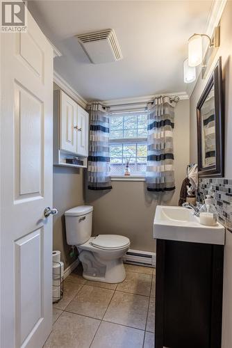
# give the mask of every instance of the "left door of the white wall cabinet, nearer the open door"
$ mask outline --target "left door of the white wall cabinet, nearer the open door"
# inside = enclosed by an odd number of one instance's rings
[[[60,91],[60,150],[76,153],[77,104]]]

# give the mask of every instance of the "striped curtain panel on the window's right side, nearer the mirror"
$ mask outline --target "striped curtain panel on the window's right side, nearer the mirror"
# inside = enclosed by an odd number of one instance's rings
[[[147,104],[147,190],[155,192],[172,191],[174,183],[174,102],[169,97],[158,97]]]

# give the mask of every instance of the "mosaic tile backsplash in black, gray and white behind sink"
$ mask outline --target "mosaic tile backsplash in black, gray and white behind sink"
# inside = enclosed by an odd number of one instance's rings
[[[206,195],[213,197],[218,221],[232,233],[232,180],[219,177],[199,179],[198,200],[204,203]]]

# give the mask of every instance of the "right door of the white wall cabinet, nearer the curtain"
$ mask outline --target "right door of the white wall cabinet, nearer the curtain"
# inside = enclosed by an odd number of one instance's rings
[[[81,106],[77,106],[77,153],[83,157],[88,157],[88,127],[89,127],[89,114],[82,109]]]

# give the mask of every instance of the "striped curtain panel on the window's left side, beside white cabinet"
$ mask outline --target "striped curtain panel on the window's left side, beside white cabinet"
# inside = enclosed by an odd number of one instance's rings
[[[99,103],[91,104],[88,109],[90,110],[88,189],[112,189],[108,109]]]

